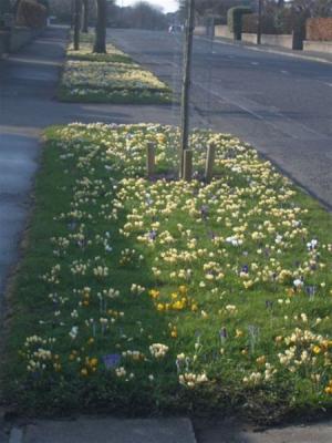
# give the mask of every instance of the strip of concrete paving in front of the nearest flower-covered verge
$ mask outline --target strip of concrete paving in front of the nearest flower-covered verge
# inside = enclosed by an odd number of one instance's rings
[[[9,440],[8,440],[9,439]],[[1,443],[331,443],[332,422],[259,429],[228,419],[86,419],[34,421],[13,427]]]

